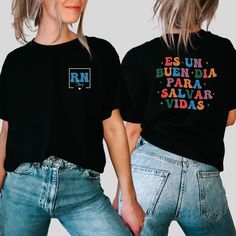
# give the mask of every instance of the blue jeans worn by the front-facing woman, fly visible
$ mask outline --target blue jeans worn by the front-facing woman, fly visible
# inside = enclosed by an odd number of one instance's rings
[[[45,236],[51,218],[72,236],[130,235],[103,194],[100,174],[53,156],[7,173],[0,214],[3,236]]]

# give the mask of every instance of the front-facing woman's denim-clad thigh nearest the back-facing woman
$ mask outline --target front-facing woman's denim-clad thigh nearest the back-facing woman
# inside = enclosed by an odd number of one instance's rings
[[[55,213],[72,236],[130,235],[103,194],[99,173],[91,170],[61,172]]]

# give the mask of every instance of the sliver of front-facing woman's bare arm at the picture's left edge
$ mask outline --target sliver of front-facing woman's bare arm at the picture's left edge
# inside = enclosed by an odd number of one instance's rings
[[[7,133],[8,133],[8,122],[2,122],[2,130],[0,133],[0,190],[6,176],[6,171],[4,169],[4,161],[6,157],[6,142],[7,142]]]

